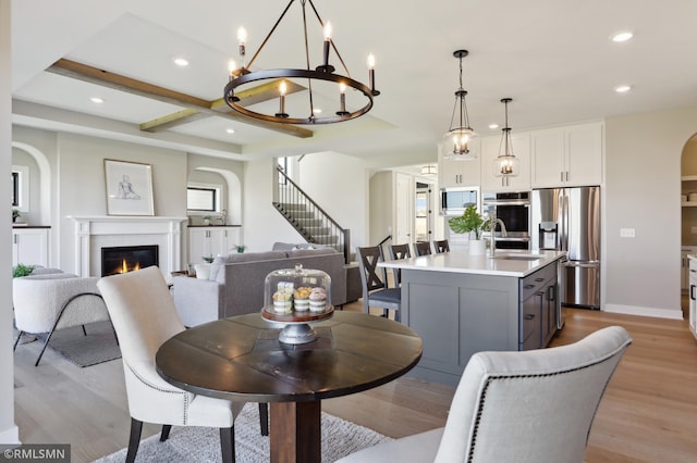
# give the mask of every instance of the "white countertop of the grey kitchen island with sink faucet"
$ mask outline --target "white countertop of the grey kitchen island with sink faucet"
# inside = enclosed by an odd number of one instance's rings
[[[497,258],[491,259],[489,256],[489,251],[487,251],[486,255],[469,255],[467,250],[453,250],[440,254],[380,262],[378,266],[426,272],[524,277],[559,259],[562,259],[566,255],[566,251],[521,251],[498,249],[496,255]],[[540,258],[535,260],[501,259],[506,255],[539,255]]]

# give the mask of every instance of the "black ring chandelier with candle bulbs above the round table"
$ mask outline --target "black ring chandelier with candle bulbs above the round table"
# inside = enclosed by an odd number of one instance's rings
[[[264,47],[267,45],[271,35],[277,29],[285,13],[288,13],[291,5],[295,2],[295,0],[291,0],[283,13],[281,13],[281,17],[276,22],[269,34],[266,36],[257,51],[254,53],[252,60],[245,64],[246,59],[246,32],[241,29],[237,35],[239,39],[239,50],[240,58],[242,60],[242,64],[240,67],[236,64],[232,65],[230,68],[230,80],[228,85],[225,85],[223,98],[228,105],[232,108],[233,111],[236,111],[245,116],[267,121],[267,122],[276,122],[281,124],[331,124],[337,122],[350,121],[352,118],[359,117],[366,114],[372,108],[372,98],[380,95],[378,90],[375,89],[375,57],[372,54],[368,55],[368,85],[363,84],[351,77],[351,73],[348,68],[344,64],[339,50],[334,41],[332,40],[332,29],[331,24],[329,22],[322,22],[313,0],[299,0],[299,4],[302,7],[302,17],[303,17],[303,33],[305,39],[305,68],[274,68],[267,71],[250,71],[254,61],[257,59]],[[319,22],[319,26],[323,30],[323,43],[322,43],[322,62],[315,68],[310,67],[310,58],[309,58],[309,39],[307,32],[307,16],[305,12],[305,7],[309,4],[311,7],[311,11],[317,17]],[[330,64],[331,51],[335,53],[335,59],[341,63],[343,68],[343,74],[335,73],[335,67]],[[273,88],[278,88],[278,112],[261,112],[252,110],[250,108],[245,108],[243,101],[237,97],[243,89],[243,86],[247,85],[246,88],[249,88],[248,84],[257,83],[257,82],[267,82],[271,83]],[[320,116],[320,111],[315,107],[315,99],[313,93],[313,85],[319,86],[319,83],[333,83],[335,84],[335,89],[333,90],[337,99],[337,107],[333,111],[333,115]],[[330,84],[331,85],[331,84]],[[290,87],[294,86],[295,89],[307,89],[308,96],[308,104],[302,111],[307,111],[306,114],[289,114],[286,112],[286,102],[285,98],[290,90]],[[346,104],[346,90],[354,90],[357,95],[357,98],[353,98],[352,102],[355,102],[355,109],[347,107]],[[303,104],[304,105],[304,104]]]

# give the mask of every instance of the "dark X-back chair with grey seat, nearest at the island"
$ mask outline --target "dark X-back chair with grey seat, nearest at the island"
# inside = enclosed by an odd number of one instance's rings
[[[378,263],[382,261],[380,247],[356,248],[356,255],[360,267],[364,311],[370,313],[370,308],[380,308],[382,309],[382,316],[387,317],[389,311],[393,310],[394,320],[399,322],[402,290],[388,287],[384,268],[378,267]]]

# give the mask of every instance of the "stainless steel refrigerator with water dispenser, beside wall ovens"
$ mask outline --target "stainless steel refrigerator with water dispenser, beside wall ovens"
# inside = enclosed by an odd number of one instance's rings
[[[530,208],[533,247],[567,251],[562,305],[600,309],[600,187],[533,190]]]

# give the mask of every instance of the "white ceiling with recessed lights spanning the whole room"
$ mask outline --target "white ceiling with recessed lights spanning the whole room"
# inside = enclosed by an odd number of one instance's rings
[[[255,70],[304,66],[297,3]],[[221,101],[236,29],[247,29],[253,53],[286,4],[15,0],[14,122],[236,160],[334,151],[376,167],[426,163],[450,126],[458,73],[452,53],[461,48],[469,50],[464,87],[481,135],[499,133],[488,126],[503,125],[503,97],[513,98],[514,133],[697,105],[694,0],[315,0],[354,78],[367,80],[366,57],[376,55],[381,95],[374,110],[323,126],[250,124]],[[634,38],[613,42],[620,30]],[[320,34],[309,37],[316,60]],[[176,66],[178,57],[189,65]],[[632,89],[620,95],[619,85]],[[316,105],[335,111],[325,96]],[[278,103],[261,97],[256,104]]]

